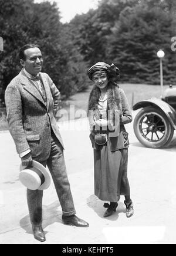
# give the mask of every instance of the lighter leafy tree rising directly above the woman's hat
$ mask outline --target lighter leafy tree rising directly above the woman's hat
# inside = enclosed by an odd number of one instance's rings
[[[90,9],[87,14],[76,15],[70,21],[70,27],[74,31],[74,43],[79,47],[84,60],[93,65],[97,61],[106,61],[107,48],[111,29],[119,19],[120,12],[127,6],[138,4],[137,0],[103,0],[99,2],[99,8]]]

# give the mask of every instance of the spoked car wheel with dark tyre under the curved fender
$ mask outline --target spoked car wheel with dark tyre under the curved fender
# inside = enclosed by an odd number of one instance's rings
[[[174,134],[167,116],[154,107],[141,109],[134,119],[133,128],[137,139],[145,147],[167,146]]]

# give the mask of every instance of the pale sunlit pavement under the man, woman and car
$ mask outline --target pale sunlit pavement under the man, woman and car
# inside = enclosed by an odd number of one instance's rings
[[[135,116],[135,113],[133,113]],[[86,119],[60,123],[65,159],[77,216],[89,228],[62,224],[62,211],[52,185],[43,196],[43,244],[175,244],[176,136],[167,149],[148,149],[130,135],[128,178],[135,214],[127,219],[121,196],[114,215],[103,218],[103,203],[94,196],[93,152]],[[0,244],[40,244],[33,239],[25,188],[18,180],[20,159],[9,132],[0,133]]]

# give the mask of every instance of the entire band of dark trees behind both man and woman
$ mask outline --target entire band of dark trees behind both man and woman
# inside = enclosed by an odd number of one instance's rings
[[[171,50],[171,38],[176,37],[175,0],[101,0],[97,9],[76,15],[68,24],[60,22],[55,3],[0,0],[0,6],[1,95],[21,69],[19,47],[28,42],[40,45],[43,71],[63,99],[89,86],[86,71],[97,61],[117,63],[120,81],[160,84],[160,48],[165,52],[164,83],[176,83],[176,51]]]

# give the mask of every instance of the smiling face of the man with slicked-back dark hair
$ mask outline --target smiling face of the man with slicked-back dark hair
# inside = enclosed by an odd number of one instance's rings
[[[36,76],[42,70],[43,58],[40,49],[29,48],[24,51],[26,56],[26,60],[20,60],[21,65],[25,68],[25,70]]]

